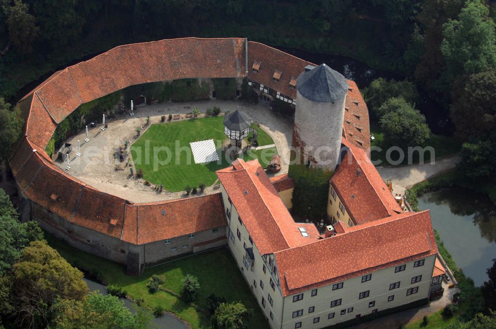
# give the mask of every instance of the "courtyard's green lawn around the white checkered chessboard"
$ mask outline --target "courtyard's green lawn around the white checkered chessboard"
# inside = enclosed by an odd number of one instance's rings
[[[186,185],[192,187],[198,186],[199,183],[212,185],[217,180],[215,171],[231,163],[226,160],[221,147],[222,141],[227,138],[224,135],[222,121],[222,116],[214,116],[151,125],[131,146],[131,155],[136,170],[142,169],[145,180],[157,185],[163,184],[164,188],[171,192],[182,191]],[[259,142],[262,143],[260,145],[274,144],[266,132],[260,128],[257,129]],[[214,140],[221,160],[208,164],[195,164],[189,143],[206,139]],[[170,152],[164,151],[165,148]],[[268,150],[272,153],[277,152],[275,148]],[[265,150],[254,152],[251,157],[245,154],[244,159],[259,159],[262,165],[266,165],[270,161],[270,156],[265,159],[261,159],[260,156],[270,152],[261,151]],[[167,159],[169,159],[168,162]]]

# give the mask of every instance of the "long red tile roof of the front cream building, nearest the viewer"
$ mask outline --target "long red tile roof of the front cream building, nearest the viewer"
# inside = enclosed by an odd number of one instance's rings
[[[275,258],[282,293],[287,296],[436,253],[431,216],[423,211],[354,226],[345,233],[276,252]]]

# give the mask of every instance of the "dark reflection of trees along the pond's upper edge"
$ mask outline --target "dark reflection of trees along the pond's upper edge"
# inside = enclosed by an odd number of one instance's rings
[[[481,236],[496,242],[496,206],[487,196],[450,188],[429,193],[425,200],[435,205],[447,205],[454,215],[473,216],[473,223],[479,226]]]

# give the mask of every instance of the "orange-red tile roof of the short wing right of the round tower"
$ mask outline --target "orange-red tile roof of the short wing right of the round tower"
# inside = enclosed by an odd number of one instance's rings
[[[357,224],[401,213],[400,206],[364,150],[346,140],[348,148],[330,182]]]

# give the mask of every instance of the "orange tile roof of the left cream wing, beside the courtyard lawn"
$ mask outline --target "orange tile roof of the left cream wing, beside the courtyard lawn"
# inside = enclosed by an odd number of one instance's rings
[[[261,255],[310,243],[318,238],[315,225],[296,223],[257,160],[236,160],[217,171],[239,216]],[[303,237],[305,227],[310,237]]]

